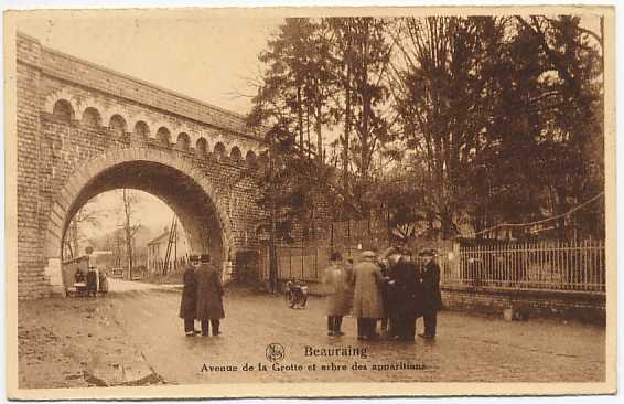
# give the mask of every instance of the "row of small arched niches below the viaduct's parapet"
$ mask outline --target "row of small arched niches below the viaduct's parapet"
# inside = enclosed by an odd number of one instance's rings
[[[74,120],[74,108],[72,107],[72,104],[69,102],[65,99],[58,99],[54,104],[52,115],[56,119],[71,121]],[[96,108],[87,107],[83,111],[82,123],[83,125],[90,127],[100,127],[101,116]],[[126,119],[119,114],[115,114],[110,117],[110,120],[108,123],[108,128],[119,136],[125,136],[128,132],[128,125],[126,123]],[[139,136],[143,139],[147,139],[150,137],[151,131],[149,125],[146,121],[138,120],[135,124],[135,127],[132,128],[132,134],[135,134],[135,136]],[[164,126],[161,126],[157,130],[155,139],[164,147],[170,147],[172,143],[171,132]],[[175,149],[181,151],[190,151],[190,148],[191,148],[191,137],[186,132],[180,132],[175,140]],[[200,137],[195,141],[194,148],[195,148],[195,153],[198,157],[206,157],[208,153],[208,142],[203,137]],[[228,155],[230,159],[235,161],[239,161],[243,159],[243,152],[240,151],[240,148],[238,146],[234,146],[228,153],[225,145],[220,141],[215,143],[213,148],[213,153],[215,156],[218,156],[219,158]],[[257,156],[254,152],[254,150],[247,151],[247,153],[245,155],[245,160],[248,164],[255,164],[257,162],[256,161]]]

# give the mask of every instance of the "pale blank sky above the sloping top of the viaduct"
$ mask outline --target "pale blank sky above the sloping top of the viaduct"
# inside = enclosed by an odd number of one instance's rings
[[[164,17],[164,18],[162,18]],[[180,12],[37,14],[18,29],[42,44],[219,107],[246,114],[258,54],[282,19]]]

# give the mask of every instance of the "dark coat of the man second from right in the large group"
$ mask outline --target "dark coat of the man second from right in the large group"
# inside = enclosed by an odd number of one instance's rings
[[[399,318],[416,318],[420,311],[418,304],[418,268],[415,264],[399,261],[394,270],[395,312]]]

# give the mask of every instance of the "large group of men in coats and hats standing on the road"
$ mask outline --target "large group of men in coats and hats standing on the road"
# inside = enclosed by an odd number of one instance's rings
[[[377,256],[363,252],[355,266],[342,265],[338,253],[331,256],[324,283],[327,297],[327,333],[342,336],[342,318],[349,311],[357,318],[357,338],[375,339],[377,321],[389,339],[411,340],[416,320],[423,318],[422,338],[434,338],[437,312],[442,306],[440,267],[435,252],[426,249],[412,257],[405,248],[391,247]]]

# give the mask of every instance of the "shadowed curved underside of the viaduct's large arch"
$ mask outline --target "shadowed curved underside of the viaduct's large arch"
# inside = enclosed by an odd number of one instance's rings
[[[187,240],[189,248],[208,253],[218,267],[227,259],[228,241],[222,217],[205,188],[179,169],[154,161],[137,160],[114,164],[95,174],[77,193],[65,214],[60,255],[76,213],[94,196],[111,190],[137,190],[157,196],[173,211]]]

